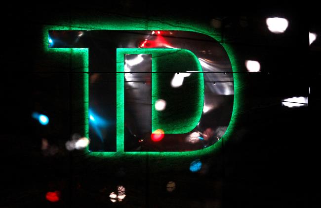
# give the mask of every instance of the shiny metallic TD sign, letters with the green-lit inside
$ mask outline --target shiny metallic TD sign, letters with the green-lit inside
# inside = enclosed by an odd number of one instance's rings
[[[225,133],[231,61],[210,36],[182,30],[49,30],[49,48],[88,53],[90,151],[189,151]]]

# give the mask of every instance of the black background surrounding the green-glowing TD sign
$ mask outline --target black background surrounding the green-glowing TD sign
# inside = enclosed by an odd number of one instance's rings
[[[317,37],[309,47],[308,36],[309,31],[321,35],[315,6],[127,0],[4,5],[0,207],[319,207],[321,43]],[[200,173],[189,171],[197,157],[118,160],[65,149],[75,133],[72,76],[44,75],[37,69],[43,67],[42,25],[75,14],[222,22],[217,30],[236,51],[242,72],[242,110],[221,150],[200,158]],[[271,16],[288,19],[285,33],[267,30],[265,19]],[[261,72],[246,73],[246,59],[259,60]],[[293,96],[308,96],[309,105],[281,105],[282,99]],[[40,126],[31,118],[33,111],[47,112],[51,125]],[[41,138],[57,150],[45,154]],[[166,192],[168,181],[175,181],[175,191]],[[117,185],[126,188],[126,198],[113,204],[109,194]],[[60,201],[46,201],[46,192],[55,190],[61,192]]]

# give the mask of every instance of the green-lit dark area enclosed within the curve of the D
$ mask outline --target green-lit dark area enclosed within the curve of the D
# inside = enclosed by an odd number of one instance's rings
[[[204,104],[204,76],[191,73],[184,78],[184,85],[172,88],[170,82],[176,72],[202,72],[199,59],[189,50],[164,49],[153,55],[152,132],[162,129],[165,134],[184,134],[192,131],[200,122]],[[191,88],[191,86],[193,86]],[[166,109],[155,110],[158,99],[166,101]],[[175,109],[170,108],[175,106]]]

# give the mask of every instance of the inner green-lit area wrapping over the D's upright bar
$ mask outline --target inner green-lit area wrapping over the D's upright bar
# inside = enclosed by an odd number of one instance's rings
[[[152,72],[162,72],[172,70],[173,73],[152,73],[152,106],[155,106],[155,102],[160,97],[161,86],[164,86],[160,83],[160,80],[164,82],[163,77],[159,77],[160,74],[167,78],[166,81],[170,83],[173,74],[176,72],[186,72],[186,71],[199,71],[202,72],[201,64],[199,59],[189,50],[186,49],[117,49],[117,72],[124,72],[124,55],[125,54],[151,54],[152,55]],[[180,59],[181,61],[178,61]],[[178,106],[186,107],[188,112],[179,112],[184,115],[182,119],[181,115],[175,115],[177,120],[161,120],[160,118],[166,117],[166,112],[156,111],[155,108],[152,108],[152,132],[156,129],[162,129],[166,134],[183,134],[192,131],[201,119],[201,114],[204,104],[204,77],[202,73],[191,73],[190,77],[184,78],[184,82],[188,82],[188,79],[193,80],[194,83],[199,86],[194,86],[190,88],[191,85],[188,85],[187,88],[189,91],[180,89],[180,97],[186,96],[186,94],[192,94],[198,96],[198,99],[194,99],[194,103],[190,101],[189,103],[181,102],[181,99],[176,99],[178,103],[175,105],[175,108]],[[122,73],[117,74],[117,151],[123,151],[124,147],[124,75]],[[171,87],[170,87],[171,88]],[[168,85],[165,88],[168,92]],[[171,90],[175,90],[171,88]],[[169,90],[170,91],[170,90]],[[182,92],[183,91],[183,92]],[[184,93],[185,92],[185,93]],[[179,95],[174,94],[175,98]],[[170,100],[170,98],[168,99]],[[167,102],[169,103],[169,101]],[[191,105],[195,108],[191,110]],[[165,109],[166,110],[166,109]],[[174,112],[177,112],[177,108],[174,109]],[[169,111],[170,114],[173,114],[172,111]],[[168,113],[167,113],[168,114]],[[168,116],[167,116],[168,117]],[[187,118],[185,118],[187,117]]]

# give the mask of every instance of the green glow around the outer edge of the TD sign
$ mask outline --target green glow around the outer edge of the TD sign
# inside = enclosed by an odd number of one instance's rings
[[[57,21],[56,21],[57,22]],[[80,72],[88,72],[88,50],[87,49],[48,49],[48,30],[186,30],[186,31],[194,31],[201,32],[206,35],[213,37],[216,40],[221,39],[221,34],[216,32],[212,27],[207,25],[206,23],[193,22],[190,20],[177,20],[170,18],[133,18],[133,17],[124,17],[124,16],[110,16],[107,17],[106,20],[97,17],[90,19],[84,16],[78,16],[77,21],[69,22],[69,21],[58,21],[59,25],[46,25],[43,27],[43,50],[48,55],[54,55],[53,58],[55,60],[61,61],[61,59],[68,59],[69,57],[81,57],[81,61],[83,63],[82,69]],[[232,48],[228,44],[222,44],[225,50],[228,53],[228,56],[232,63],[232,69],[234,72],[239,71],[239,63],[234,55]],[[146,49],[147,50],[147,49]],[[151,49],[149,49],[151,50]],[[146,52],[146,54],[149,54]],[[78,58],[80,59],[80,58]],[[71,59],[70,61],[75,61]],[[123,63],[123,62],[122,62]],[[121,73],[122,74],[122,73]],[[94,157],[131,157],[133,155],[143,156],[150,155],[155,158],[159,157],[201,157],[204,155],[214,154],[217,150],[221,149],[224,141],[231,138],[234,133],[234,129],[237,122],[237,117],[239,111],[241,109],[241,95],[242,95],[242,86],[241,86],[241,75],[239,73],[234,73],[234,106],[233,113],[231,117],[230,124],[224,134],[224,136],[214,145],[200,150],[194,151],[183,151],[183,152],[89,152],[87,155]],[[122,87],[123,89],[123,75],[117,74],[117,82],[118,87]],[[84,74],[83,76],[83,109],[85,111],[85,121],[83,132],[84,135],[88,137],[88,74]],[[122,85],[122,86],[121,86]],[[123,99],[123,97],[117,97],[118,100]],[[122,102],[123,103],[123,102]],[[119,104],[118,104],[119,105]],[[118,108],[118,107],[117,107]],[[118,118],[119,119],[119,118]],[[123,118],[122,118],[123,119]],[[123,122],[123,121],[122,121]],[[123,127],[122,127],[123,128]],[[119,132],[123,132],[123,129],[118,129]],[[235,132],[236,133],[236,132]],[[119,138],[117,138],[119,140]],[[122,140],[123,142],[123,140]],[[123,144],[122,144],[123,145]],[[121,143],[117,144],[117,149],[121,148]]]

